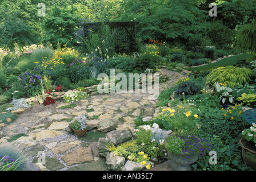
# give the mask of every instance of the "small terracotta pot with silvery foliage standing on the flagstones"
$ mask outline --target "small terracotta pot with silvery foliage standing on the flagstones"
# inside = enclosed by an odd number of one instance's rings
[[[82,137],[87,133],[87,117],[85,115],[79,115],[70,122],[70,127],[78,137]]]

